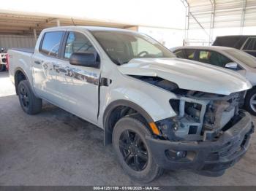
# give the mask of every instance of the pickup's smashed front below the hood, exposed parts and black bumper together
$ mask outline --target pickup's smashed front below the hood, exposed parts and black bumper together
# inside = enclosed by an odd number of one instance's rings
[[[220,176],[244,155],[254,131],[251,116],[239,109],[244,91],[218,95],[162,79],[147,82],[176,94],[170,99],[176,116],[156,122],[160,136],[146,137],[159,166]]]

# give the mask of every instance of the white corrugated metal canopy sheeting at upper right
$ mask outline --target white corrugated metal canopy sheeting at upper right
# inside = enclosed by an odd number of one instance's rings
[[[187,2],[189,12],[203,28],[210,28],[211,14],[214,14],[214,28],[256,26],[255,0],[187,0]],[[215,11],[211,2],[215,4]],[[189,29],[201,28],[197,21],[189,15]]]

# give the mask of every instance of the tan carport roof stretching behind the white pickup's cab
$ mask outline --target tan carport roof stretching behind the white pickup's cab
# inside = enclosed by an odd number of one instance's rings
[[[121,23],[108,23],[92,20],[81,20],[69,17],[49,17],[46,15],[38,16],[31,14],[13,14],[0,12],[0,34],[19,34],[31,35],[34,34],[34,29],[37,35],[44,28],[57,26],[108,26],[115,28],[129,28]]]

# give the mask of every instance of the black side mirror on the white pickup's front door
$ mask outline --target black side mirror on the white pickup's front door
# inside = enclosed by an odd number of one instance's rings
[[[99,68],[97,53],[94,52],[73,52],[69,58],[69,63],[75,66]]]

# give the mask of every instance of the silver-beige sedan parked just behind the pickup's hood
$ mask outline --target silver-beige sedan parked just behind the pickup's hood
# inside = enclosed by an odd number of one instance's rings
[[[246,52],[230,47],[214,46],[185,46],[175,47],[172,51],[178,58],[185,58],[212,66],[219,66],[237,71],[246,77],[252,84],[252,89],[247,91],[244,106],[256,115],[256,58]]]

